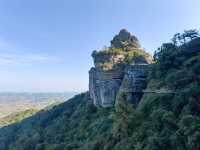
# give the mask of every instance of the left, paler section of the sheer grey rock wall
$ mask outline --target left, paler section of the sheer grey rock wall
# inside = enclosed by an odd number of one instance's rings
[[[123,75],[123,70],[119,69],[102,71],[97,68],[91,68],[89,71],[89,91],[96,106],[114,106]]]

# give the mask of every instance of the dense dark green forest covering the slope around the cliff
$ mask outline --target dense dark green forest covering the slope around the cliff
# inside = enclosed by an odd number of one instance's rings
[[[118,93],[115,108],[96,108],[88,92],[0,129],[1,150],[200,149],[200,38],[175,34],[154,54],[137,107]]]

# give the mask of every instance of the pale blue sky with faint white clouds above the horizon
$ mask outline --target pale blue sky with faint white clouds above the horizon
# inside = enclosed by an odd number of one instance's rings
[[[86,91],[91,53],[120,29],[153,53],[200,29],[199,0],[0,0],[0,92]]]

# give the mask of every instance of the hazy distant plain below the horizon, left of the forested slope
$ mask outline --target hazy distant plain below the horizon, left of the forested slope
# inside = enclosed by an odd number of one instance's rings
[[[25,110],[40,110],[54,103],[67,101],[76,92],[63,93],[0,93],[0,120]]]

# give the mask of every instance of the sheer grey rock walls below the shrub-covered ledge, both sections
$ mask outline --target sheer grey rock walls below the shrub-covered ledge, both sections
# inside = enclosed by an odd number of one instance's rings
[[[146,87],[148,65],[126,65],[117,70],[89,71],[90,96],[96,106],[112,107],[119,90],[127,93],[128,101],[137,105]]]

